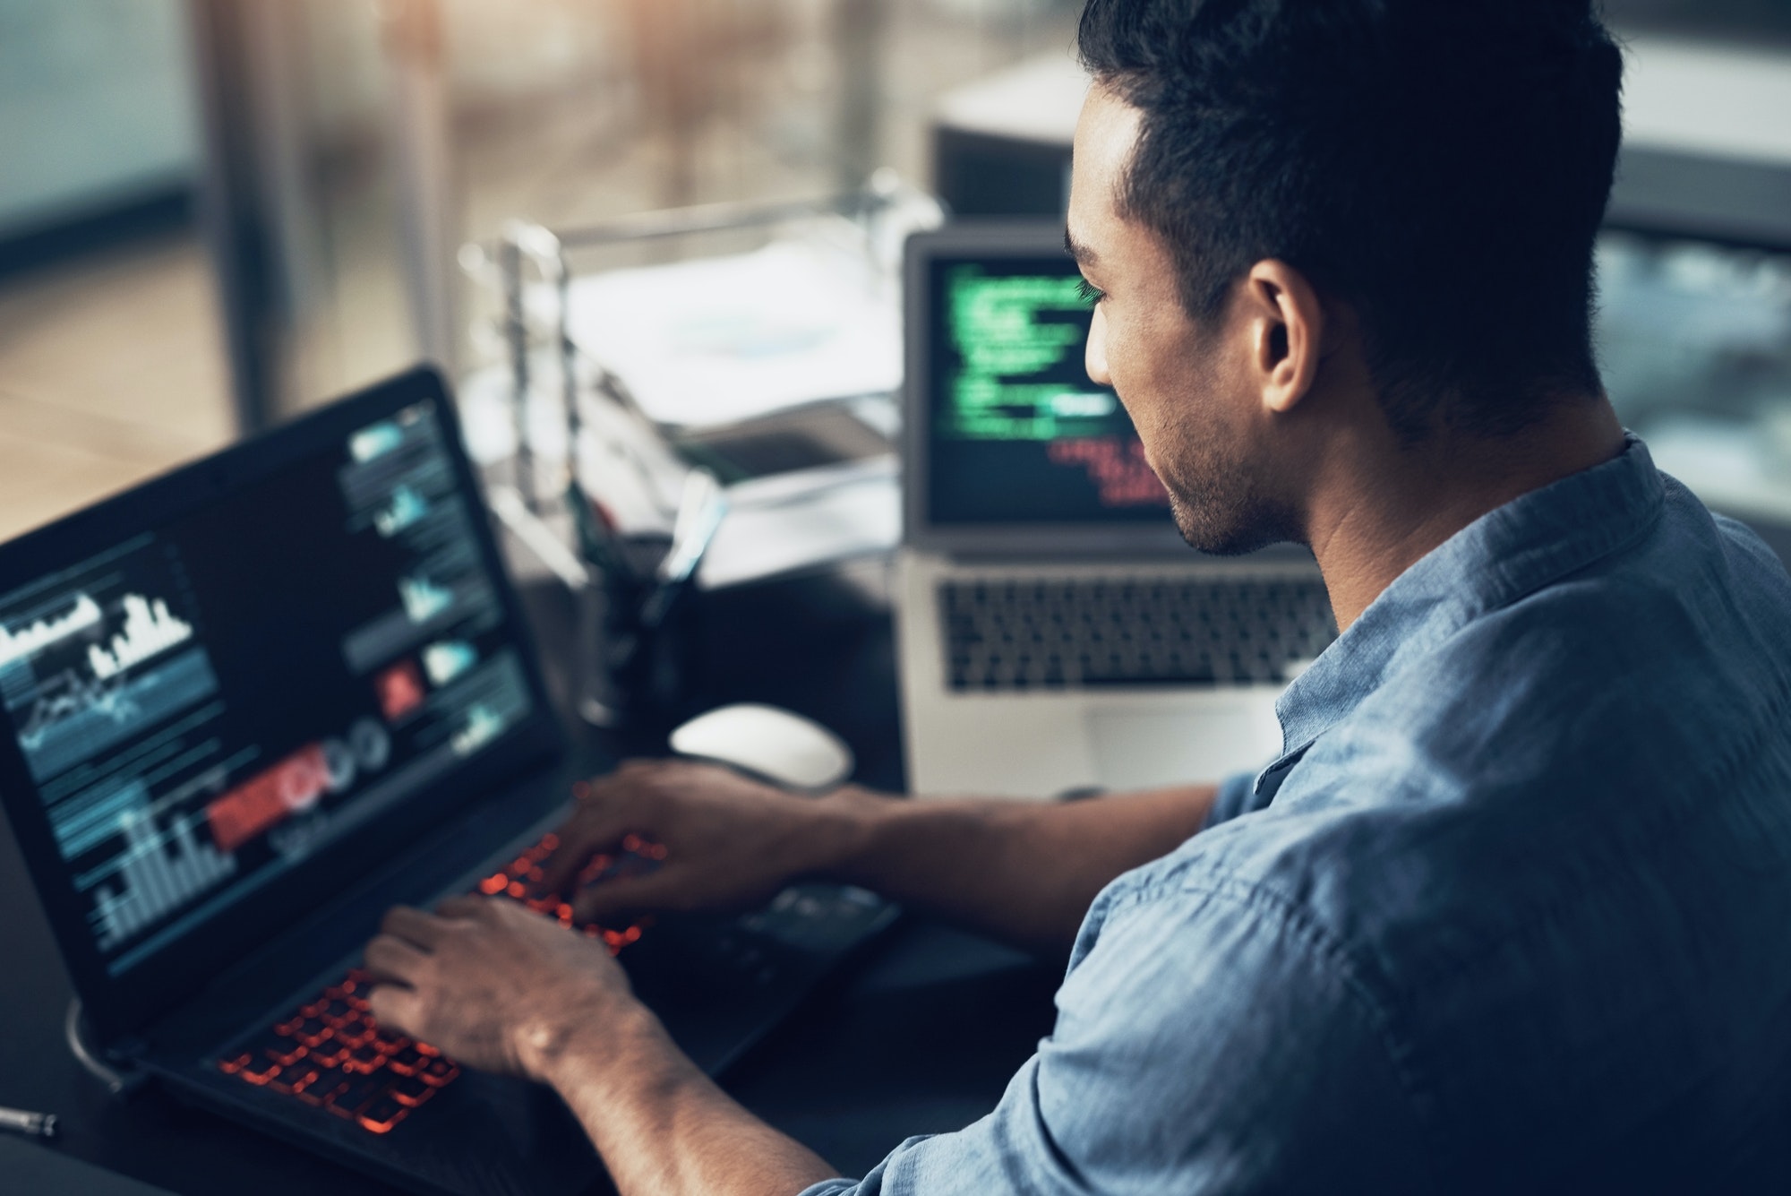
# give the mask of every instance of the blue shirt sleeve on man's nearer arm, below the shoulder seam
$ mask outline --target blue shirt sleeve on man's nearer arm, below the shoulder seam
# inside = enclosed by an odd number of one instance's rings
[[[1388,1028],[1347,961],[1247,888],[1103,902],[1051,1037],[992,1114],[802,1196],[1427,1187]]]

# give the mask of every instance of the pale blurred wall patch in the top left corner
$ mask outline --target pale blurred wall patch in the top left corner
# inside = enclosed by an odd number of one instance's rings
[[[188,179],[184,0],[0,0],[0,236]]]

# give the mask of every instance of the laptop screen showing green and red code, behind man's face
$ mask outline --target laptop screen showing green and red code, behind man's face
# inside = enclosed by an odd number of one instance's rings
[[[1164,525],[1132,421],[1084,367],[1093,303],[1076,263],[938,252],[928,274],[930,523]]]

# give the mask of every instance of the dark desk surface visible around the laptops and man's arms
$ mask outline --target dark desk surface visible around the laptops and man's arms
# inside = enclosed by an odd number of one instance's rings
[[[693,611],[691,705],[763,700],[824,718],[860,759],[860,781],[901,788],[896,671],[881,562],[704,594]],[[525,585],[543,643],[564,600]],[[550,686],[557,654],[544,654]],[[593,761],[654,752],[625,734],[584,734]],[[186,1108],[159,1090],[107,1099],[68,1056],[68,978],[0,825],[0,1105],[57,1114],[63,1149],[179,1196],[389,1196],[392,1189],[292,1146]],[[989,1112],[1051,1028],[1060,978],[996,944],[910,920],[835,976],[724,1076],[747,1108],[847,1175],[903,1137]],[[5,1189],[0,1176],[0,1189]]]

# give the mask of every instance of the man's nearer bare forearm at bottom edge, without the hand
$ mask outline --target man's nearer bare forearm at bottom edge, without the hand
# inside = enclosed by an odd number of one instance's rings
[[[795,1196],[838,1175],[722,1092],[645,1008],[539,1031],[532,1055],[528,1071],[564,1098],[621,1196]]]

